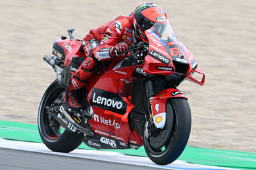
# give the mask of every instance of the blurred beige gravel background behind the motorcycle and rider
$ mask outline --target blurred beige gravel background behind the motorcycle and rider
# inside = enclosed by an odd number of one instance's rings
[[[67,29],[76,38],[143,1],[0,1],[0,120],[36,124],[45,89],[56,79],[43,61]],[[256,152],[256,1],[151,1],[204,70],[205,86],[184,82],[192,146]]]

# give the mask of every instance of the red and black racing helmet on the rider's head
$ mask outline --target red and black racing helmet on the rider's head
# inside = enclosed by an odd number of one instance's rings
[[[143,42],[147,42],[145,31],[155,23],[166,24],[167,16],[164,10],[153,3],[141,3],[134,12],[133,26]]]

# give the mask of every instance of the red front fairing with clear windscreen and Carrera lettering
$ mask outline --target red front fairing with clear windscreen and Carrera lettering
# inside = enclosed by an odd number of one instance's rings
[[[186,68],[184,73],[186,79],[204,84],[204,80],[196,81],[191,79],[193,72],[202,72],[197,66],[193,54],[180,42],[175,35],[170,22],[166,24],[156,23],[145,31],[149,42],[148,56],[145,58],[143,70],[147,73],[170,75],[179,72],[177,65]],[[178,64],[177,64],[178,63]],[[204,78],[204,76],[203,76]]]

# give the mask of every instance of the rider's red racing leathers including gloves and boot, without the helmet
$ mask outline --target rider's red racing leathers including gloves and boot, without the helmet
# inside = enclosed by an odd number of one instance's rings
[[[86,103],[84,104],[81,97],[79,97],[80,90],[86,85],[88,78],[97,72],[105,61],[121,59],[118,55],[122,54],[132,42],[136,41],[132,30],[133,20],[134,15],[119,16],[97,29],[92,29],[83,38],[83,57],[85,59],[77,72],[72,75],[65,96],[70,108],[80,111],[89,106],[86,100],[84,100]]]

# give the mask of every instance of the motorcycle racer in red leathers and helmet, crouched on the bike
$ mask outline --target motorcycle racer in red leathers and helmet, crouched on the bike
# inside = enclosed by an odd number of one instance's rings
[[[74,111],[88,110],[90,105],[81,97],[86,81],[109,60],[119,61],[132,43],[147,42],[145,31],[156,22],[166,23],[164,10],[152,3],[142,3],[129,16],[92,29],[83,40],[84,61],[72,75],[64,100]]]

